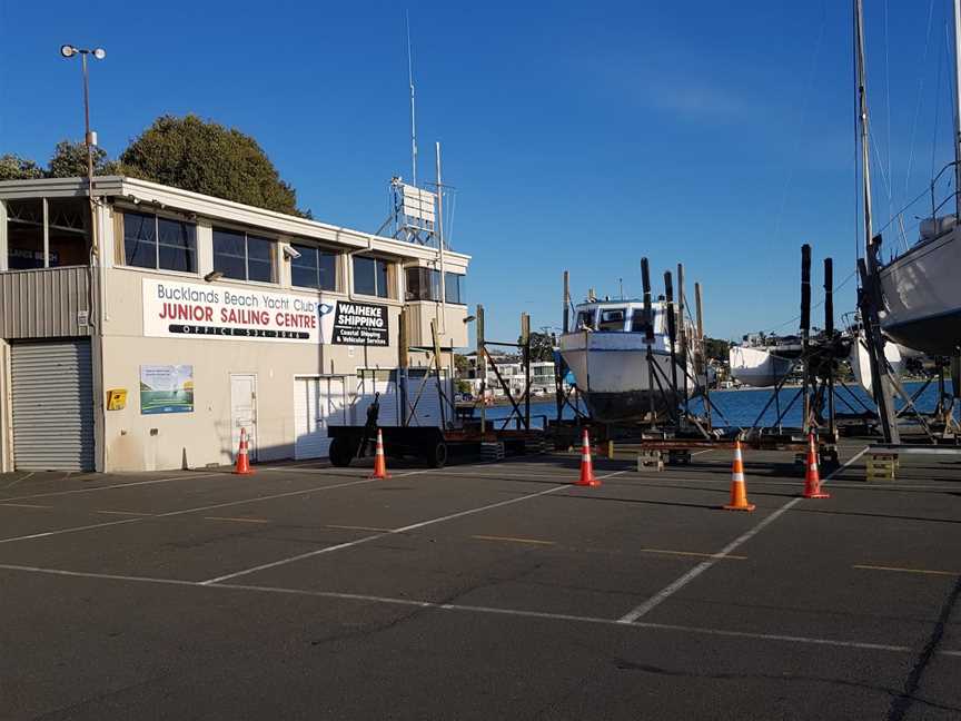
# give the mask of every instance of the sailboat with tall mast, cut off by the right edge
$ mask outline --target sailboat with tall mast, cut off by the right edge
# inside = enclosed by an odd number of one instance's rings
[[[880,238],[869,237],[869,263],[880,282],[883,307],[879,308],[881,329],[899,344],[932,355],[958,354],[961,345],[961,0],[954,0],[954,214],[921,223],[918,241],[883,264],[879,258]],[[862,22],[862,0],[855,0],[856,20]],[[863,53],[863,41],[860,51]],[[863,68],[860,91],[864,90]],[[866,107],[861,121],[866,136]],[[939,174],[940,175],[940,174]],[[866,188],[870,194],[870,185]],[[933,194],[933,184],[932,184]],[[933,200],[933,198],[932,198]],[[870,204],[870,198],[868,198]],[[942,203],[942,206],[944,204]],[[938,206],[933,205],[932,208]],[[869,206],[870,208],[870,206]]]

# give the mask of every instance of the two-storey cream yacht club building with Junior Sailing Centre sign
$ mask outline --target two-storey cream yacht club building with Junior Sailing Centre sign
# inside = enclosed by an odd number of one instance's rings
[[[0,471],[225,464],[241,427],[257,461],[323,457],[427,374],[402,313],[445,372],[467,345],[466,255],[133,178],[93,197],[91,223],[86,179],[0,182]]]

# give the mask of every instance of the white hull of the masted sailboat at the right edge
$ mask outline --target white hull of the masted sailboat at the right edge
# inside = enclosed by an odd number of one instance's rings
[[[961,344],[961,228],[915,245],[880,277],[884,333],[909,348],[953,355]]]

